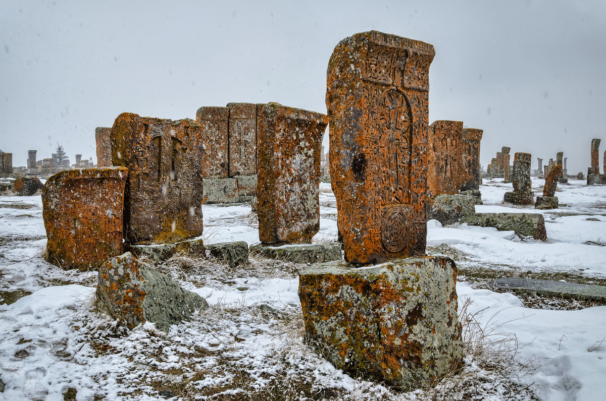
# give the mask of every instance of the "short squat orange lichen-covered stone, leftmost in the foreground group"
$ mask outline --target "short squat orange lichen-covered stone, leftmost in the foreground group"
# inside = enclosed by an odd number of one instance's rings
[[[94,270],[122,254],[127,177],[127,168],[103,167],[63,170],[48,179],[42,188],[48,262]]]

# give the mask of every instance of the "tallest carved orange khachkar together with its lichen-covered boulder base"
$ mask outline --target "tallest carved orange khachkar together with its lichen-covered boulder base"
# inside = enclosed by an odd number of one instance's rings
[[[407,258],[362,269],[319,263],[299,277],[308,342],[339,369],[405,387],[434,382],[462,357],[456,267],[424,256],[434,54],[430,44],[377,31],[335,47],[326,100],[345,258]]]

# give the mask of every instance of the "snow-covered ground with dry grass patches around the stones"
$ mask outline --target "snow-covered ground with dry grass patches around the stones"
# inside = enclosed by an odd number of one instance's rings
[[[533,190],[542,184],[533,179]],[[481,187],[484,205],[476,211],[542,213],[547,242],[430,220],[428,252],[454,255],[461,270],[604,283],[606,187],[570,184],[556,193],[566,206],[548,211],[502,204],[511,190],[502,179]],[[330,184],[321,184],[320,204],[314,240],[334,243]],[[204,217],[207,243],[258,242],[250,205],[208,205]],[[160,268],[213,308],[168,334],[149,323],[124,333],[95,308],[96,273],[60,270],[42,259],[44,247],[40,197],[0,197],[0,298],[22,296],[0,305],[0,400],[62,400],[68,389],[78,400],[603,399],[606,306],[533,309],[513,294],[459,282],[464,372],[435,389],[396,391],[336,370],[302,342],[301,265],[259,259],[231,270],[174,257]]]

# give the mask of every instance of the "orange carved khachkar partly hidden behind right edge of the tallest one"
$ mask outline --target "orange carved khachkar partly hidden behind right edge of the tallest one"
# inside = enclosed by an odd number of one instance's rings
[[[427,196],[456,194],[465,179],[463,122],[434,121],[427,134]]]

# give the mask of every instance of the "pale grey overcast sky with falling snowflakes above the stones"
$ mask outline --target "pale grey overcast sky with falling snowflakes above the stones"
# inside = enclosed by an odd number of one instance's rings
[[[123,111],[195,119],[202,105],[280,102],[326,113],[335,45],[379,30],[433,44],[429,118],[502,146],[568,157],[606,150],[606,1],[0,0],[0,149],[26,165],[64,146],[93,157]],[[328,142],[328,131],[325,134]]]

